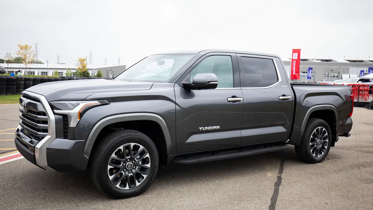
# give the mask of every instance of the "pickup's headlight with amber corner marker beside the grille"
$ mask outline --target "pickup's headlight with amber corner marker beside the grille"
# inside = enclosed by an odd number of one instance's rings
[[[65,114],[69,118],[69,127],[76,127],[79,120],[89,109],[110,104],[105,100],[100,101],[53,101],[49,102],[54,113]]]

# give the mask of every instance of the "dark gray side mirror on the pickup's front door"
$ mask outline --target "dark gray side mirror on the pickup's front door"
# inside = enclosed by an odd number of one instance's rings
[[[217,77],[215,74],[196,74],[193,82],[184,82],[183,87],[189,90],[215,89]]]

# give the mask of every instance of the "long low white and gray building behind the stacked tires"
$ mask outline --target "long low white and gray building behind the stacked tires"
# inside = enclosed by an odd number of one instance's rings
[[[3,64],[2,65],[8,73],[11,71],[18,72],[21,70],[24,75],[41,75],[41,76],[51,76],[54,71],[58,71],[59,76],[66,76],[66,71],[68,68],[72,71],[73,76],[75,76],[76,66],[68,64],[28,64],[27,71],[24,64]],[[97,74],[100,70],[104,77],[112,78],[116,77],[124,70],[126,70],[125,65],[104,65],[104,64],[87,64],[88,72],[91,76]]]

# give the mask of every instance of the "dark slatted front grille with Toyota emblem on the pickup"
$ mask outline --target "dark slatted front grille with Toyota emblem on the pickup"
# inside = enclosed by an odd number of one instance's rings
[[[21,101],[25,102],[25,111],[19,109],[21,112],[19,125],[22,127],[22,133],[28,138],[42,140],[48,135],[48,117],[41,102],[25,95],[22,95]]]

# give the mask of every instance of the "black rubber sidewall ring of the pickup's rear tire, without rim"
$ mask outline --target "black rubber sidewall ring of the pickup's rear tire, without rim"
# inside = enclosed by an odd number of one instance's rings
[[[317,127],[323,127],[327,131],[327,134],[328,134],[328,145],[326,147],[326,151],[320,157],[314,157],[310,151],[310,138],[311,138],[313,131]],[[304,139],[304,142],[305,142],[305,149],[306,149],[308,156],[312,158],[316,163],[323,161],[326,158],[326,156],[329,154],[330,145],[332,143],[332,132],[330,130],[329,125],[323,120],[314,122],[311,126],[311,129],[307,130],[307,134],[304,136],[304,138],[306,138]]]

